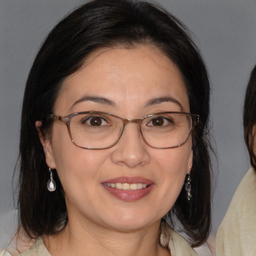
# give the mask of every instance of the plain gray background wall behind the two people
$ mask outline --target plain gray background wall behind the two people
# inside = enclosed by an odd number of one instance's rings
[[[18,154],[25,80],[49,30],[82,0],[0,0],[0,247],[13,235],[12,171]],[[242,105],[256,63],[256,0],[158,0],[192,31],[212,86],[212,135],[218,155],[213,232],[248,169]]]

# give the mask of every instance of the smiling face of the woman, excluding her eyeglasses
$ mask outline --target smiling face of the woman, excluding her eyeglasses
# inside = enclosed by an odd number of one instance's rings
[[[189,112],[189,102],[178,68],[155,46],[138,45],[97,50],[64,80],[54,114],[81,111],[142,118]],[[136,123],[125,126],[114,146],[92,150],[75,146],[66,125],[54,121],[51,139],[43,144],[47,164],[57,170],[63,186],[69,222],[114,230],[158,223],[192,165],[191,136],[182,146],[156,149],[143,141]],[[149,188],[123,190],[105,183],[146,183]]]

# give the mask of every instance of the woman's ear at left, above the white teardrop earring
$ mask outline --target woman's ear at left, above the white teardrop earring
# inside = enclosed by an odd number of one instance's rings
[[[39,139],[41,141],[43,151],[44,151],[44,154],[45,154],[46,164],[51,169],[55,169],[56,166],[55,166],[55,161],[54,161],[54,157],[53,157],[53,153],[52,153],[51,140],[43,137],[42,132],[41,132],[41,125],[42,125],[41,121],[36,121],[35,122],[35,127],[37,129],[38,136],[39,136]]]

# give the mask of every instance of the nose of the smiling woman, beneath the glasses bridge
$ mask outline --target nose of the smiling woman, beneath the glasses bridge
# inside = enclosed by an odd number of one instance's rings
[[[150,161],[149,146],[143,141],[137,123],[125,125],[118,142],[113,146],[111,160],[115,164],[134,168]]]

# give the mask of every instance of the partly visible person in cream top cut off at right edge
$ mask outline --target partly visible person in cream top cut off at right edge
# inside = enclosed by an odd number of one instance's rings
[[[251,71],[243,107],[244,140],[251,167],[236,189],[218,228],[217,255],[256,254],[256,66]]]

